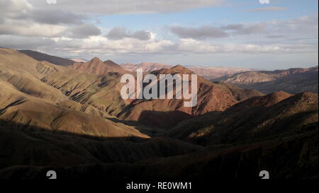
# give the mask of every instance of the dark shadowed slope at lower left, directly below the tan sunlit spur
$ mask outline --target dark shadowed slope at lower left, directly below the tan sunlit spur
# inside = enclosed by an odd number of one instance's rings
[[[11,165],[135,163],[147,158],[191,153],[202,148],[164,137],[92,137],[48,131],[40,127],[23,129],[23,124],[16,124],[16,127],[20,129],[0,124],[0,169]]]

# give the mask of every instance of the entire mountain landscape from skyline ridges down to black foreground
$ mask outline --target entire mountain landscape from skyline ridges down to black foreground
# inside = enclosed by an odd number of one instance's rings
[[[38,53],[0,48],[1,179],[43,179],[47,170],[60,179],[319,177],[318,94],[308,90],[318,68],[198,76],[198,103],[184,107],[123,100],[121,76],[134,73],[111,60],[68,64]],[[147,71],[196,74],[181,65]],[[250,73],[267,78],[230,78]],[[257,83],[295,91],[238,87]]]

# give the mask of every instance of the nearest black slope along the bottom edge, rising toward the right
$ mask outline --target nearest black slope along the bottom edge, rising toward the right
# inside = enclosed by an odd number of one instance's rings
[[[184,156],[152,158],[139,163],[85,164],[69,167],[17,165],[0,170],[0,178],[44,179],[55,170],[59,179],[194,181],[318,179],[318,128],[306,134],[242,146],[216,146]],[[122,181],[121,181],[122,182]]]

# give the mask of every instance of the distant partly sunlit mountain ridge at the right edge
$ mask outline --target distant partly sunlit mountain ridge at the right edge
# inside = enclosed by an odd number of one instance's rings
[[[214,78],[211,81],[231,83],[240,88],[255,89],[265,94],[280,90],[293,94],[303,91],[318,93],[318,66],[308,69],[247,71]]]

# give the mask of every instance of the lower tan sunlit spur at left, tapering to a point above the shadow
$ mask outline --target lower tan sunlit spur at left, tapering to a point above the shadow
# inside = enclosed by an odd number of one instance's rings
[[[99,137],[148,138],[133,127],[47,103],[0,81],[1,125],[11,129],[35,128]]]

